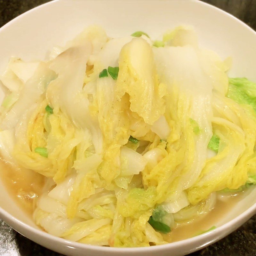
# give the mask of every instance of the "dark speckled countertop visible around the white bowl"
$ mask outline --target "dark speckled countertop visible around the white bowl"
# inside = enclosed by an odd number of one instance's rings
[[[0,27],[44,0],[0,0]],[[256,30],[256,0],[205,0],[223,9]],[[60,255],[20,235],[0,220],[0,255]],[[242,227],[200,251],[190,255],[256,255],[256,215]]]

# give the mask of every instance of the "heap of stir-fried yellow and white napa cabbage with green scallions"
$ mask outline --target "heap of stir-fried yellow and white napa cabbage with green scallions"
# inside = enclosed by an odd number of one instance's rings
[[[46,61],[12,58],[0,153],[45,177],[36,224],[85,244],[164,244],[218,191],[256,184],[256,84],[228,78],[229,63],[190,27],[154,42],[90,27]]]

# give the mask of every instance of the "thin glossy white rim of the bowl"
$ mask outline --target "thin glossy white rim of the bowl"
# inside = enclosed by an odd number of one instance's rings
[[[66,0],[66,1],[72,1],[72,0]],[[86,2],[90,2],[91,0],[84,0]],[[106,1],[106,0],[105,0]],[[107,0],[110,1],[110,0]],[[118,0],[120,1],[120,0]],[[148,1],[148,0],[146,0]],[[167,0],[167,1],[183,1],[185,2],[186,0]],[[44,4],[40,4],[39,6],[36,6],[33,9],[28,10],[27,12],[24,12],[22,14],[20,14],[19,16],[15,17],[14,19],[10,20],[8,23],[6,23],[4,26],[2,26],[0,28],[0,34],[1,32],[8,28],[10,25],[12,25],[12,23],[14,23],[16,20],[19,20],[20,18],[22,18],[23,16],[27,15],[30,12],[34,12],[35,10],[41,8],[42,6],[45,5],[50,5],[56,2],[62,2],[60,0],[52,0],[49,1],[47,3]],[[238,18],[236,18],[234,15],[221,10],[220,8],[213,6],[212,4],[208,4],[205,3],[203,1],[200,0],[191,0],[190,2],[195,2],[196,4],[201,4],[204,5],[206,8],[212,8],[213,10],[222,13],[223,15],[229,16],[230,18],[232,18],[233,20],[235,20],[236,22],[240,23],[240,25],[242,25],[244,27],[244,29],[249,30],[251,33],[253,33],[256,36],[256,32],[247,24],[245,24],[243,21],[239,20]],[[8,193],[9,194],[9,193]],[[100,252],[113,252],[113,253],[118,253],[118,252],[157,252],[159,250],[164,250],[164,249],[172,249],[175,247],[180,247],[183,244],[196,244],[200,243],[199,246],[197,246],[196,248],[194,248],[195,250],[191,249],[192,251],[196,251],[199,250],[207,245],[210,245],[218,240],[220,240],[222,237],[228,235],[229,233],[231,233],[233,230],[235,230],[236,228],[240,227],[241,225],[239,224],[239,226],[236,226],[236,223],[244,223],[245,221],[247,221],[249,218],[252,217],[253,214],[256,213],[256,203],[253,204],[251,207],[249,207],[246,211],[242,212],[241,214],[239,214],[236,218],[228,221],[227,223],[221,225],[220,227],[217,227],[207,233],[198,235],[198,236],[194,236],[194,237],[190,237],[187,239],[183,239],[180,241],[175,241],[175,242],[171,242],[168,244],[162,244],[162,245],[155,245],[155,246],[149,246],[149,247],[106,247],[106,246],[99,246],[99,245],[91,245],[91,244],[83,244],[83,243],[78,243],[78,242],[73,242],[58,236],[53,236],[49,233],[44,232],[43,230],[34,228],[20,220],[18,220],[17,218],[13,217],[9,212],[5,211],[2,207],[0,207],[0,217],[1,219],[3,219],[7,224],[10,223],[10,226],[12,227],[12,223],[16,223],[20,230],[27,230],[29,232],[29,234],[31,234],[31,237],[34,235],[37,236],[41,236],[43,238],[45,238],[46,240],[51,240],[52,242],[56,242],[59,244],[63,244],[65,246],[71,247],[71,248],[79,248],[79,249],[90,249],[90,250],[94,250],[94,251],[100,251]],[[233,228],[232,228],[233,227]],[[228,231],[227,231],[228,230]],[[22,231],[16,230],[17,232],[19,232],[20,234],[22,234]],[[226,231],[226,232],[225,232]],[[211,238],[211,236],[215,234],[216,237],[215,238]],[[29,238],[30,239],[30,238]],[[32,240],[32,239],[31,239]],[[207,241],[207,242],[205,242]],[[202,244],[203,242],[205,242],[204,244]]]

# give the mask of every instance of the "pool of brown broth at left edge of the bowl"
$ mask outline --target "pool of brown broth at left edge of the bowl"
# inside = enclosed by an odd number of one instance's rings
[[[27,169],[18,169],[0,159],[1,179],[8,193],[21,209],[32,216],[34,199],[40,196],[44,186],[44,176]]]

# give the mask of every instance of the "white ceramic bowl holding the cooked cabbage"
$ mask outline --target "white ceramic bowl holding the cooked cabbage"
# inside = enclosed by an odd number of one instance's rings
[[[0,73],[10,56],[44,59],[53,46],[64,44],[91,24],[102,25],[109,36],[143,30],[152,38],[180,24],[192,25],[202,45],[223,58],[233,57],[230,76],[256,81],[256,33],[228,13],[199,1],[53,1],[41,5],[0,29]],[[68,255],[182,255],[228,235],[256,211],[255,191],[248,190],[232,211],[216,220],[218,228],[209,233],[148,248],[109,248],[51,236],[19,209],[2,184],[0,195],[0,217],[5,222],[36,243]]]

